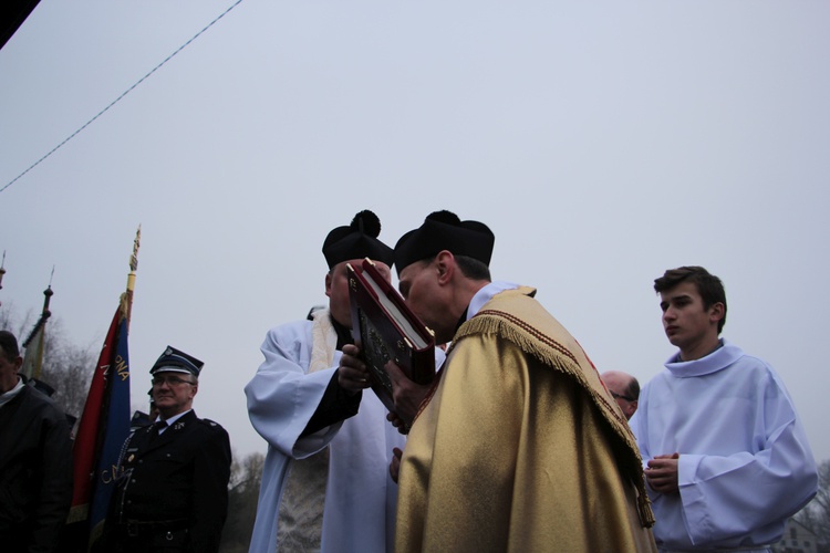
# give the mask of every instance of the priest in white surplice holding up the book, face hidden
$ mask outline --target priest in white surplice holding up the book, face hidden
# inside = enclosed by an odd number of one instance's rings
[[[388,476],[404,437],[365,380],[339,371],[352,342],[345,265],[375,261],[390,278],[394,252],[361,211],[323,243],[329,309],[268,332],[264,362],[246,386],[251,424],[268,441],[251,553],[392,551],[397,488]]]

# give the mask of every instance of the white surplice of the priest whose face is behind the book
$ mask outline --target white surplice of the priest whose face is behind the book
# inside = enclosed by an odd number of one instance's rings
[[[328,317],[328,311],[317,316]],[[333,351],[333,331],[328,340]],[[330,367],[309,372],[313,364],[310,321],[272,328],[261,351],[264,362],[245,388],[251,424],[268,441],[249,551],[276,550],[278,509],[290,467],[294,459],[328,446],[322,551],[391,552],[397,484],[390,478],[388,466],[392,448],[403,449],[405,437],[386,420],[386,408],[372,390],[363,393],[354,417],[300,437],[334,375],[341,352],[333,352]]]

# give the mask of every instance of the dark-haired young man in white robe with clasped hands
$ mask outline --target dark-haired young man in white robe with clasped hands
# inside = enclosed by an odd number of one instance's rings
[[[719,338],[720,280],[701,267],[654,281],[679,349],[631,419],[663,551],[769,551],[817,491],[816,461],[778,374]]]

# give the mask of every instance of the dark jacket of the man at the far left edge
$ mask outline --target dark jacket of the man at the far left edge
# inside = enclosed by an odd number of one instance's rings
[[[66,417],[23,386],[0,407],[0,551],[52,551],[72,502]]]

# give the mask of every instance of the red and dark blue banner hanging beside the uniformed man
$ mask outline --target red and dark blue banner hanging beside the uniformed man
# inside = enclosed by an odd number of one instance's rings
[[[87,521],[81,534],[87,536],[82,542],[89,545],[102,534],[118,476],[118,455],[129,435],[126,301],[123,294],[106,334],[73,449],[74,493],[68,522]]]

